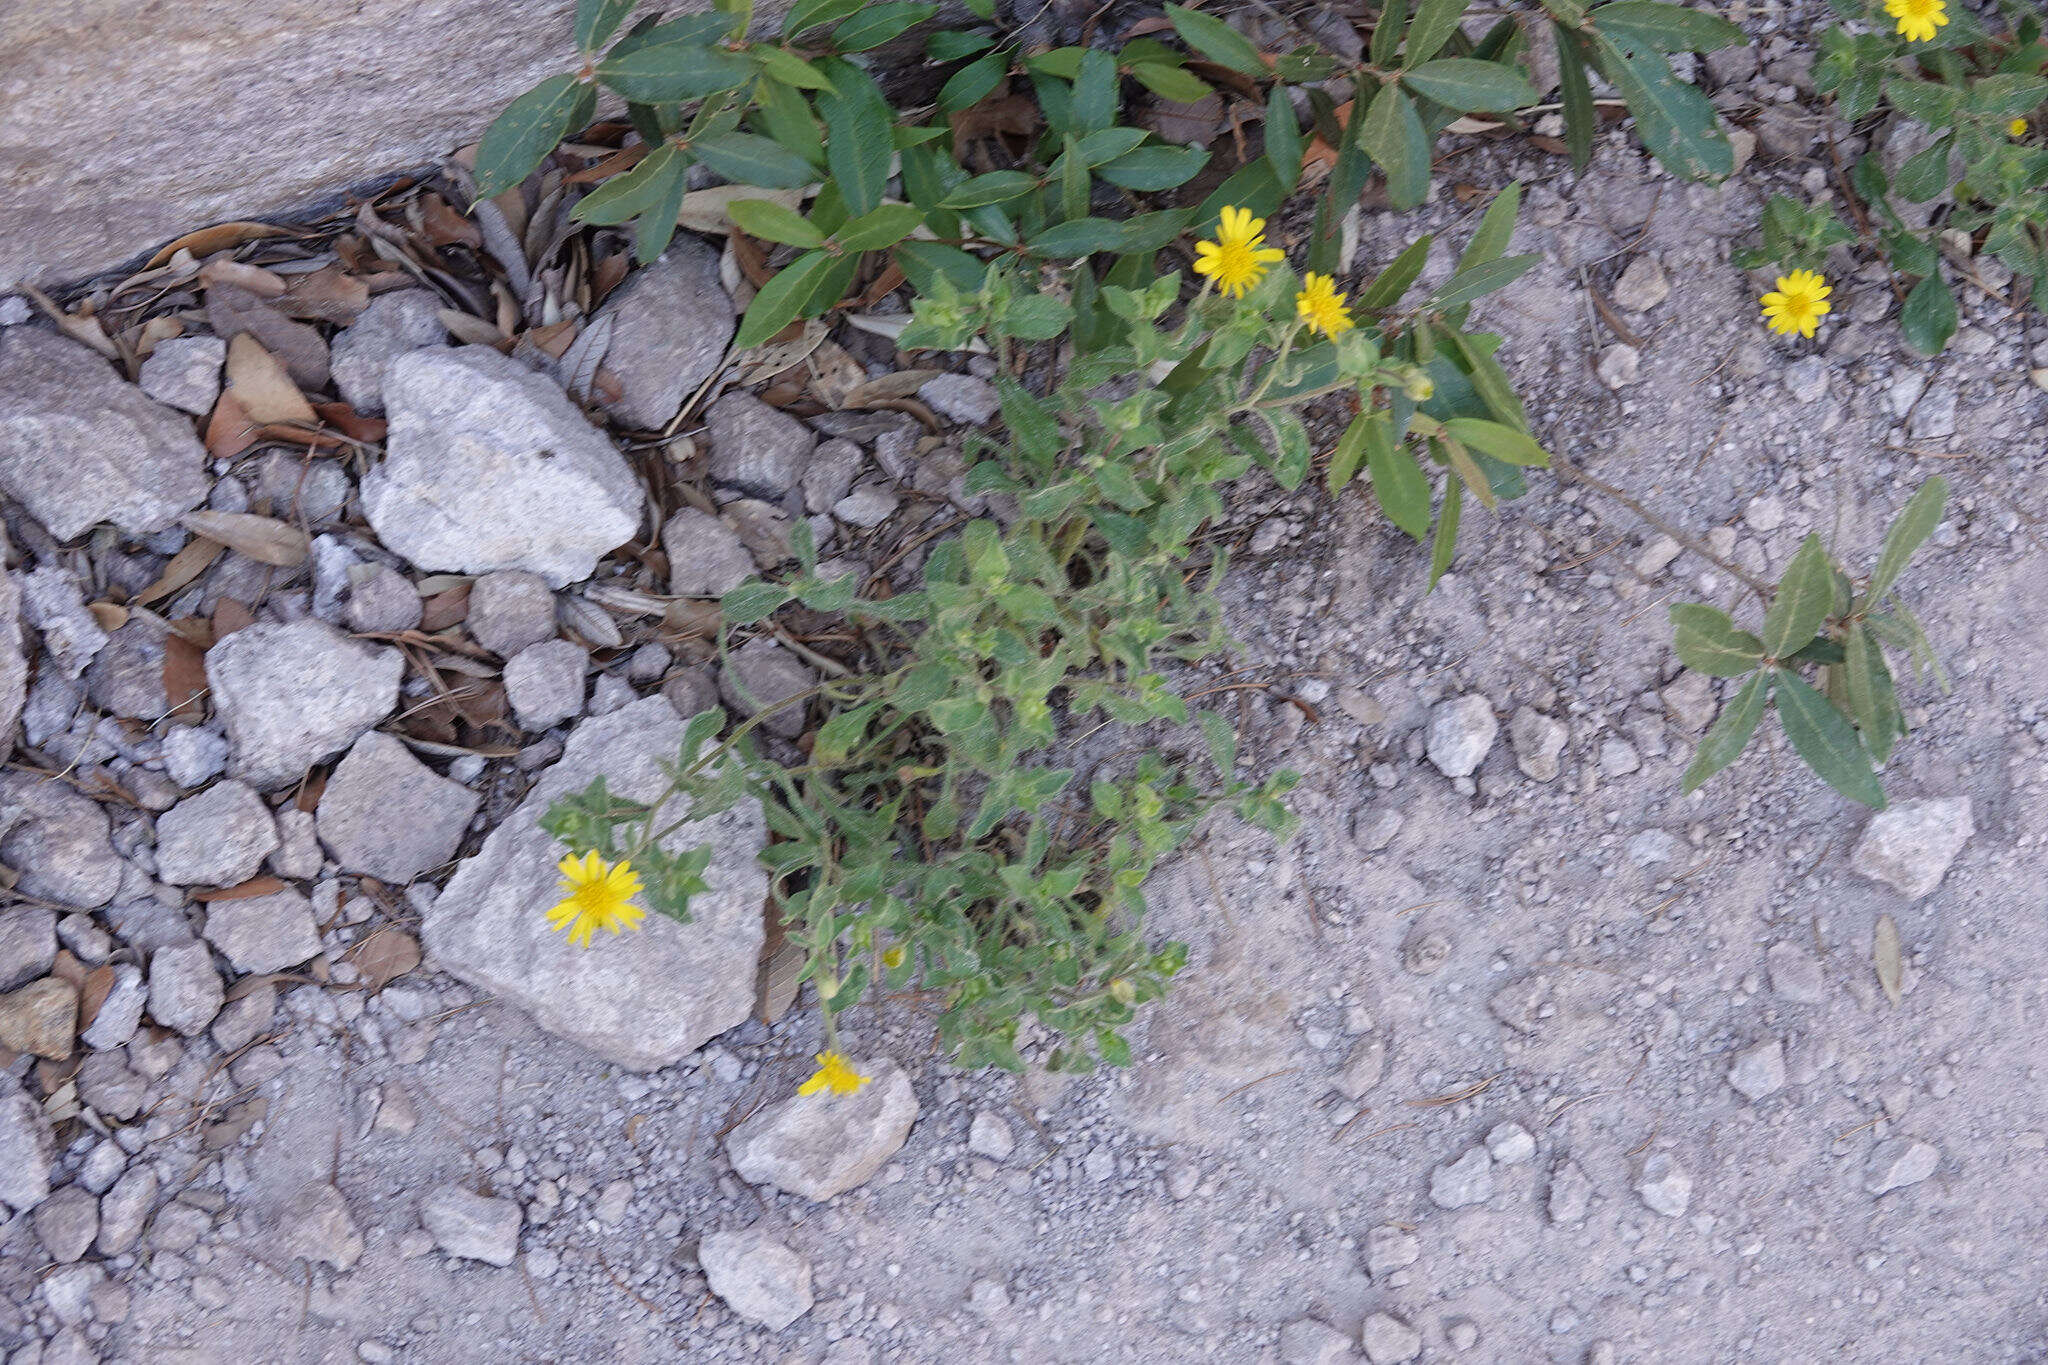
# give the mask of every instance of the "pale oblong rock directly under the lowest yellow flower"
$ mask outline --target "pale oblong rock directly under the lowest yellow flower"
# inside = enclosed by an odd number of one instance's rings
[[[852,1064],[868,1076],[856,1093],[791,1095],[739,1124],[725,1140],[733,1171],[805,1199],[831,1199],[881,1171],[918,1121],[918,1095],[885,1056]]]

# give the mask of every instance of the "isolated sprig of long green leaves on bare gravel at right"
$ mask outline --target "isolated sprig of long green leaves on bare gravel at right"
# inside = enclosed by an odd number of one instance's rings
[[[1806,536],[1772,593],[1761,632],[1739,628],[1726,612],[1702,602],[1671,608],[1673,643],[1686,667],[1749,679],[1700,741],[1686,769],[1688,792],[1741,757],[1765,708],[1776,708],[1792,749],[1823,782],[1849,800],[1884,808],[1872,765],[1884,763],[1907,733],[1884,647],[1905,651],[1915,675],[1925,667],[1948,688],[1927,632],[1894,591],[1946,505],[1948,481],[1923,483],[1892,520],[1862,587],[1829,559],[1819,536]],[[1821,669],[1819,688],[1800,675],[1802,665]]]

